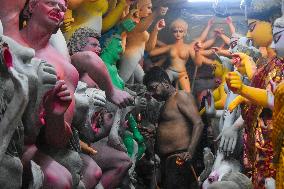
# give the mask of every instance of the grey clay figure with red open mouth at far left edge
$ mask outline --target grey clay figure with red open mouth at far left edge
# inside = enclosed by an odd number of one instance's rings
[[[0,183],[2,188],[21,188],[23,123],[28,103],[28,78],[17,72],[9,46],[0,37]]]

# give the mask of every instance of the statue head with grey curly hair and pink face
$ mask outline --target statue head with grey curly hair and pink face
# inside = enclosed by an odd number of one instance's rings
[[[81,51],[92,51],[99,55],[101,52],[100,42],[97,39],[99,37],[99,32],[92,28],[77,29],[67,44],[70,56]]]

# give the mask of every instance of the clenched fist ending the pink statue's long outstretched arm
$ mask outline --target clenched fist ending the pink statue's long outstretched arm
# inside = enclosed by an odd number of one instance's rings
[[[107,99],[117,105],[119,108],[125,108],[126,106],[132,105],[134,101],[133,97],[125,91],[114,88],[110,96]]]

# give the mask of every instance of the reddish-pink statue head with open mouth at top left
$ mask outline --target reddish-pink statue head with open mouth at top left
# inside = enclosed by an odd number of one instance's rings
[[[57,31],[63,23],[66,10],[67,0],[30,0],[23,15],[28,22],[34,21],[38,25]]]

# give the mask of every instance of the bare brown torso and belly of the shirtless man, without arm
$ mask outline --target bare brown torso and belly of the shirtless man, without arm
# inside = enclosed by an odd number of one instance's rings
[[[171,96],[162,107],[157,129],[157,145],[160,155],[188,148],[192,124],[178,108],[178,93]]]

